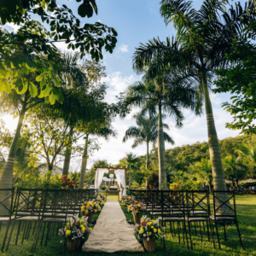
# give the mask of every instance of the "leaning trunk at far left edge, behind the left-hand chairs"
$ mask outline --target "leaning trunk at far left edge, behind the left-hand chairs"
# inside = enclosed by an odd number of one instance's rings
[[[4,166],[2,175],[0,177],[1,189],[12,189],[14,186],[13,171],[15,166],[15,157],[16,157],[18,146],[19,146],[20,131],[21,131],[24,117],[25,117],[25,113],[26,113],[26,101],[23,103],[22,109],[20,111],[19,121],[18,121],[17,129],[15,131],[15,137],[9,149],[8,160]],[[0,201],[2,201],[8,195],[9,195],[9,191],[2,191],[0,193]],[[4,205],[6,204],[6,206],[9,208],[8,200],[4,201],[3,204]],[[9,214],[9,212],[3,206],[0,207],[0,213]]]

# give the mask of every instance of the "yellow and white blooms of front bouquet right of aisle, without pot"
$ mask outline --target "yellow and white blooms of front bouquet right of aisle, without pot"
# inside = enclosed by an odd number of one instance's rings
[[[142,240],[146,238],[149,241],[150,238],[158,239],[166,237],[164,235],[165,227],[162,227],[160,224],[160,218],[157,219],[150,219],[144,215],[141,218],[141,224],[136,224],[134,226],[134,235],[137,237],[138,240]]]

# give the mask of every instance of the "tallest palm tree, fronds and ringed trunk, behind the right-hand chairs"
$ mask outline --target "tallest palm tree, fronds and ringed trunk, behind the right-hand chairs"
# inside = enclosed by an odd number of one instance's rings
[[[229,15],[224,11],[226,4],[225,0],[205,0],[197,11],[191,1],[162,0],[160,13],[166,25],[174,24],[177,41],[171,43],[167,38],[165,44],[160,39],[153,39],[146,45],[142,44],[134,55],[137,71],[142,72],[145,66],[157,63],[148,69],[151,75],[163,67],[193,70],[190,75],[197,82],[198,97],[205,101],[213,185],[217,190],[226,189],[226,184],[209,89],[214,69],[225,64],[224,55],[230,50],[233,39],[239,36],[243,26],[240,20],[250,20],[247,9],[239,6],[238,11],[231,9]],[[226,194],[220,196],[224,196],[223,200],[228,199]]]

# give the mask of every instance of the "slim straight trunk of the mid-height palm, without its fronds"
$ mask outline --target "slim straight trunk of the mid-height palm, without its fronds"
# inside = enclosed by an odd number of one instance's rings
[[[159,103],[158,113],[158,162],[159,162],[159,189],[167,189],[166,179],[166,148],[164,139],[164,130],[162,123],[162,107]]]

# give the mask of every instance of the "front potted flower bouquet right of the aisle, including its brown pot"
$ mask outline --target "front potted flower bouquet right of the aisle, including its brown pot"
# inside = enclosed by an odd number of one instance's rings
[[[134,227],[134,235],[139,241],[143,240],[145,249],[148,252],[155,251],[155,240],[166,237],[164,235],[165,227],[160,224],[160,218],[150,219],[147,216],[141,218],[140,224],[136,224]]]

